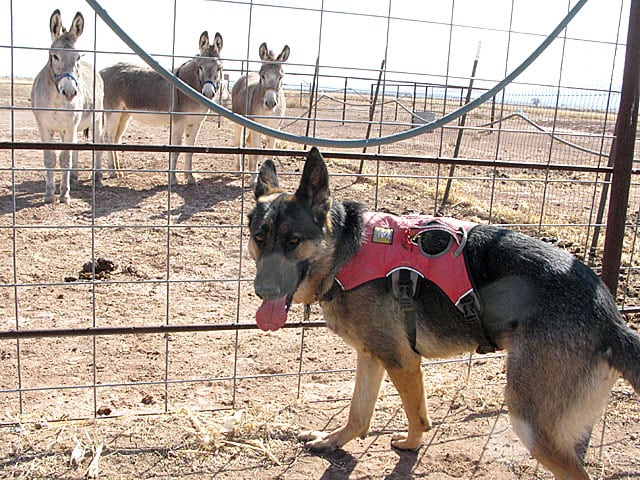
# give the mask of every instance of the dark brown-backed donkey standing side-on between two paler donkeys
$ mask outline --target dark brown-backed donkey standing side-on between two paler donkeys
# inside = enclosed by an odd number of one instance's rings
[[[213,44],[209,43],[209,33],[200,35],[200,55],[180,65],[174,74],[195,90],[213,99],[222,80],[222,35],[215,34]],[[117,63],[100,71],[104,80],[105,141],[120,143],[129,120],[135,115],[149,125],[168,126],[171,129],[172,145],[194,145],[209,109],[200,102],[174,88],[156,71],[129,63]],[[147,113],[141,113],[147,112]],[[153,112],[153,113],[150,113]],[[158,115],[169,113],[170,115]],[[178,183],[176,164],[179,152],[170,155],[170,182]],[[195,184],[191,161],[193,153],[186,155],[185,177]],[[117,152],[109,152],[111,173],[120,168]]]

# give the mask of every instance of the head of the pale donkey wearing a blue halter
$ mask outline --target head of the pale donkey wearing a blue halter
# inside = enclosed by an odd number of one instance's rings
[[[84,30],[84,17],[76,13],[67,31],[62,26],[60,10],[56,9],[49,20],[49,30],[53,42],[49,49],[49,69],[58,92],[71,101],[78,94],[81,55],[74,50],[74,45]]]

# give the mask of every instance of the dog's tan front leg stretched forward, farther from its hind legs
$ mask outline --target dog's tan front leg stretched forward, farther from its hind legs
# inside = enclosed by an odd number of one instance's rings
[[[358,350],[356,385],[349,409],[349,420],[333,432],[307,431],[298,435],[305,446],[314,452],[326,452],[342,447],[355,437],[369,431],[373,409],[384,377],[384,366],[368,353]]]

